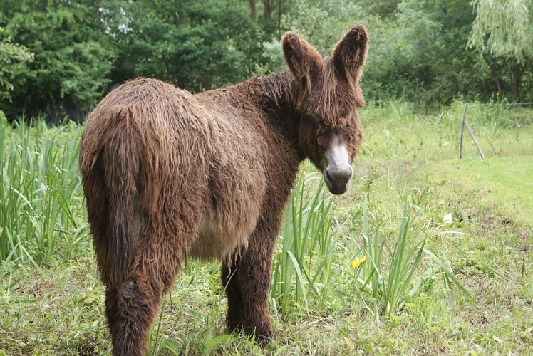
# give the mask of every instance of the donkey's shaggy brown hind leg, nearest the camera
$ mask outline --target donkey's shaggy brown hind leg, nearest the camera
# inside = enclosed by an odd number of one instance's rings
[[[108,284],[105,312],[114,355],[145,355],[148,331],[162,295],[170,290],[185,258],[185,241],[145,234],[130,258],[128,273],[118,286]],[[175,246],[170,241],[180,241]]]

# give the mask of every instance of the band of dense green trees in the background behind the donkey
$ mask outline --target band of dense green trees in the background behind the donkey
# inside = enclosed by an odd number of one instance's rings
[[[0,110],[80,121],[138,75],[217,88],[283,69],[284,31],[327,55],[356,23],[367,100],[533,99],[533,0],[3,0]]]

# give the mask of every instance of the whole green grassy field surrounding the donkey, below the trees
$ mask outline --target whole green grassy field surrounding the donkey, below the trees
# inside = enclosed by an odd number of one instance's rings
[[[274,256],[267,347],[227,336],[219,263],[190,261],[150,354],[532,354],[533,110],[471,110],[486,159],[470,137],[459,159],[463,110],[362,110],[343,196],[302,165]],[[0,117],[0,355],[110,353],[76,166],[81,129]]]

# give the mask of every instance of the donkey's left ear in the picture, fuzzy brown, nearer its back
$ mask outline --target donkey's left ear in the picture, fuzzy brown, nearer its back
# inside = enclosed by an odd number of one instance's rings
[[[294,32],[287,32],[281,38],[283,56],[291,70],[296,83],[302,90],[311,90],[311,83],[319,78],[322,73],[322,57],[304,38]]]

